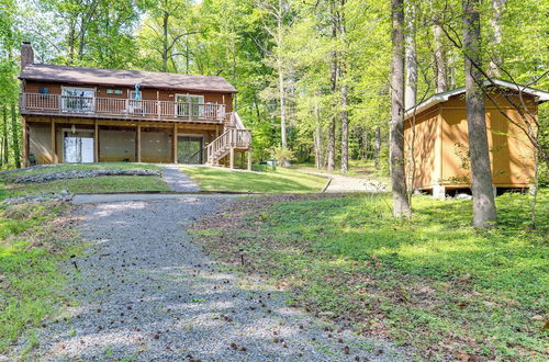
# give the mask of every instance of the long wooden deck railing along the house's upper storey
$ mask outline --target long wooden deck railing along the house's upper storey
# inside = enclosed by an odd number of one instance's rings
[[[21,93],[22,113],[227,122],[224,104]]]

